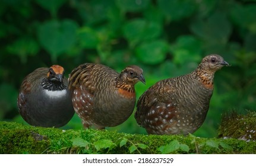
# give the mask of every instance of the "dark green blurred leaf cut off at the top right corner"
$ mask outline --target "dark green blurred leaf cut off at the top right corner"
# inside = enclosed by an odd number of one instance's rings
[[[256,33],[256,5],[234,5],[230,16],[239,27],[247,28],[252,33]]]

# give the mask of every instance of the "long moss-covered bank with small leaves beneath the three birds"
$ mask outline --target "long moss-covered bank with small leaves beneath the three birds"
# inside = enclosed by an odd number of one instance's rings
[[[120,146],[122,140],[125,143]],[[174,140],[188,145],[189,151],[178,148],[172,151],[173,154],[256,154],[256,142],[238,139],[132,135],[93,129],[61,130],[0,122],[1,154],[160,154],[159,147]],[[129,149],[131,146],[135,149]]]

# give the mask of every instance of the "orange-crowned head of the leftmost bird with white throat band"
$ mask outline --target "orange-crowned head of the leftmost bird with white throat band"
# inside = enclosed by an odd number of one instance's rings
[[[62,80],[64,79],[64,72],[65,71],[64,71],[64,68],[62,68],[62,66],[52,65],[49,68],[47,78],[50,81],[62,82]]]

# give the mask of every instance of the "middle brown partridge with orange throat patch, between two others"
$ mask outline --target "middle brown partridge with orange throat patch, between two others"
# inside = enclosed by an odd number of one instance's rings
[[[69,75],[69,90],[84,128],[104,129],[125,122],[135,107],[134,85],[138,81],[145,83],[138,66],[128,66],[121,74],[95,63],[75,68]]]

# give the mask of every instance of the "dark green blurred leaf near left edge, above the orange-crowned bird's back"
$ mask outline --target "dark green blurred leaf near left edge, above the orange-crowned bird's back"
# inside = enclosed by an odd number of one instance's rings
[[[21,62],[27,62],[27,56],[34,56],[39,51],[39,45],[34,39],[27,37],[15,40],[7,47],[8,52],[20,57]]]

